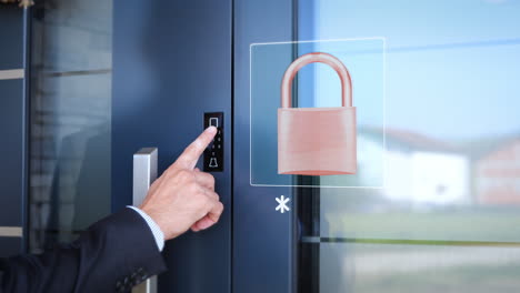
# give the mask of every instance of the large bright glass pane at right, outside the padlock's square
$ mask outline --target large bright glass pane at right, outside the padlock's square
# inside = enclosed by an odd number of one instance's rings
[[[329,189],[321,178],[321,189],[297,190],[300,292],[516,291],[520,3],[313,0],[299,9],[300,40],[387,44],[386,125],[370,130],[384,132],[384,188]],[[307,92],[328,95],[326,79],[314,75]]]

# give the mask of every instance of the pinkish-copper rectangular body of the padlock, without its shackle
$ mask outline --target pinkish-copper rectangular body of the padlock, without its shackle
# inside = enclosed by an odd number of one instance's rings
[[[356,108],[278,109],[278,173],[357,172]]]

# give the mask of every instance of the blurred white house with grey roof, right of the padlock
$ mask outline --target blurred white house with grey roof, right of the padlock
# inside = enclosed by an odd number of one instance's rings
[[[360,140],[368,145],[367,141],[380,132],[363,129]],[[419,133],[387,129],[383,158],[387,169],[384,198],[412,204],[471,202],[470,156],[460,148]]]

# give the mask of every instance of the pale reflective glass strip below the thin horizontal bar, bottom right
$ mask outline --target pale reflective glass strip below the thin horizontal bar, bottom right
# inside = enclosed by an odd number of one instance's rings
[[[517,292],[520,249],[322,243],[320,292]]]

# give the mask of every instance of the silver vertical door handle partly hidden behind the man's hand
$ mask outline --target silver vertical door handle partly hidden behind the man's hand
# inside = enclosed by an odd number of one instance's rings
[[[133,199],[139,206],[147,196],[148,189],[157,179],[157,148],[143,148],[133,154]],[[152,276],[132,289],[132,293],[157,293],[157,276]]]

